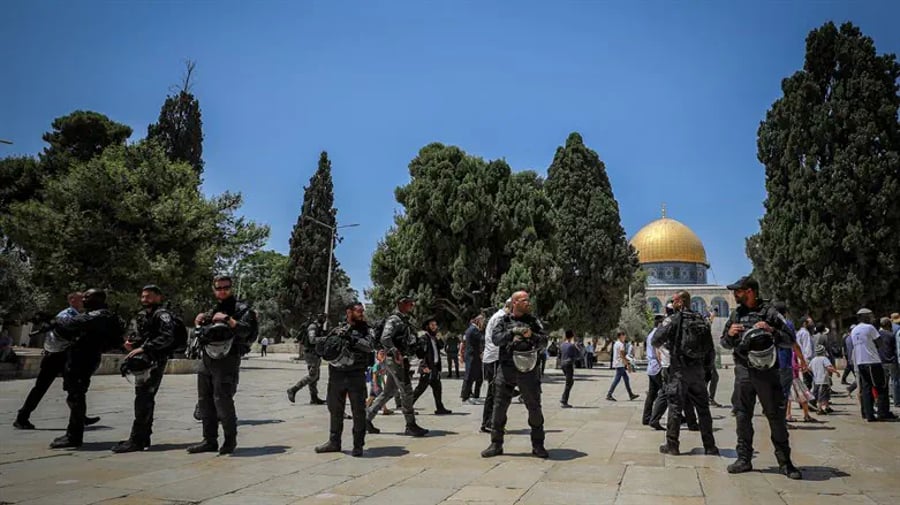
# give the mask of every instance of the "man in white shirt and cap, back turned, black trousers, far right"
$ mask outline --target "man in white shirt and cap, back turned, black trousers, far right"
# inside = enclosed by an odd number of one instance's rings
[[[856,313],[859,324],[850,331],[850,345],[853,352],[853,365],[856,367],[856,377],[859,381],[859,399],[862,416],[866,421],[884,421],[896,419],[890,410],[890,398],[888,398],[887,377],[884,375],[884,366],[881,364],[881,356],[878,354],[876,340],[881,338],[878,330],[872,325],[875,316],[871,310],[862,308]],[[872,389],[878,394],[878,417],[875,417],[875,399]]]

